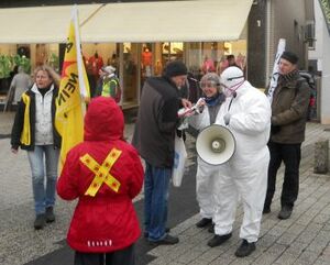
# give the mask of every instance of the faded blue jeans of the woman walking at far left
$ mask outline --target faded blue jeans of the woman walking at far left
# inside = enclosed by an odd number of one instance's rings
[[[36,214],[45,213],[45,208],[55,203],[58,155],[59,150],[54,150],[54,145],[35,145],[34,151],[28,151]]]

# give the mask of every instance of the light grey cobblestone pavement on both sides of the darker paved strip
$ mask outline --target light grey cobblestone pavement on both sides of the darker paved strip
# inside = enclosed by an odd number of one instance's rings
[[[0,113],[0,136],[10,133],[12,113]],[[130,140],[133,124],[125,129]],[[293,216],[277,219],[283,168],[278,173],[277,191],[272,212],[264,216],[256,251],[249,257],[237,258],[242,207],[237,212],[233,236],[218,247],[207,246],[211,234],[195,227],[194,216],[173,228],[180,242],[173,246],[158,246],[148,252],[156,258],[150,265],[329,265],[330,264],[330,174],[314,174],[314,143],[330,139],[330,131],[318,123],[307,124],[307,139],[302,144],[300,192]],[[9,139],[0,139],[0,264],[22,265],[62,247],[66,228],[75,202],[58,199],[57,221],[44,230],[32,228],[33,198],[30,168],[25,152],[13,155]],[[58,213],[59,214],[59,213]],[[65,228],[65,229],[64,229]],[[65,265],[65,264],[64,264]]]

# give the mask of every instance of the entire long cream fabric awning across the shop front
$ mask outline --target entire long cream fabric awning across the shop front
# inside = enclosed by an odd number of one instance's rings
[[[81,4],[81,41],[202,42],[239,40],[252,0]],[[72,7],[0,10],[0,43],[61,43]]]

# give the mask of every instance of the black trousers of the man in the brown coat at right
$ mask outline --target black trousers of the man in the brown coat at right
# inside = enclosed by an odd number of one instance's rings
[[[271,207],[276,186],[276,174],[282,164],[285,165],[282,186],[280,206],[293,208],[299,191],[299,165],[301,144],[279,144],[268,142],[271,162],[268,166],[268,185],[265,207]]]

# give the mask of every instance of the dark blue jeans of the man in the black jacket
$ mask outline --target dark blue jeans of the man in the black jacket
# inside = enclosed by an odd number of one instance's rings
[[[147,162],[145,164],[144,227],[150,241],[160,241],[166,236],[165,225],[172,169],[154,167]]]

